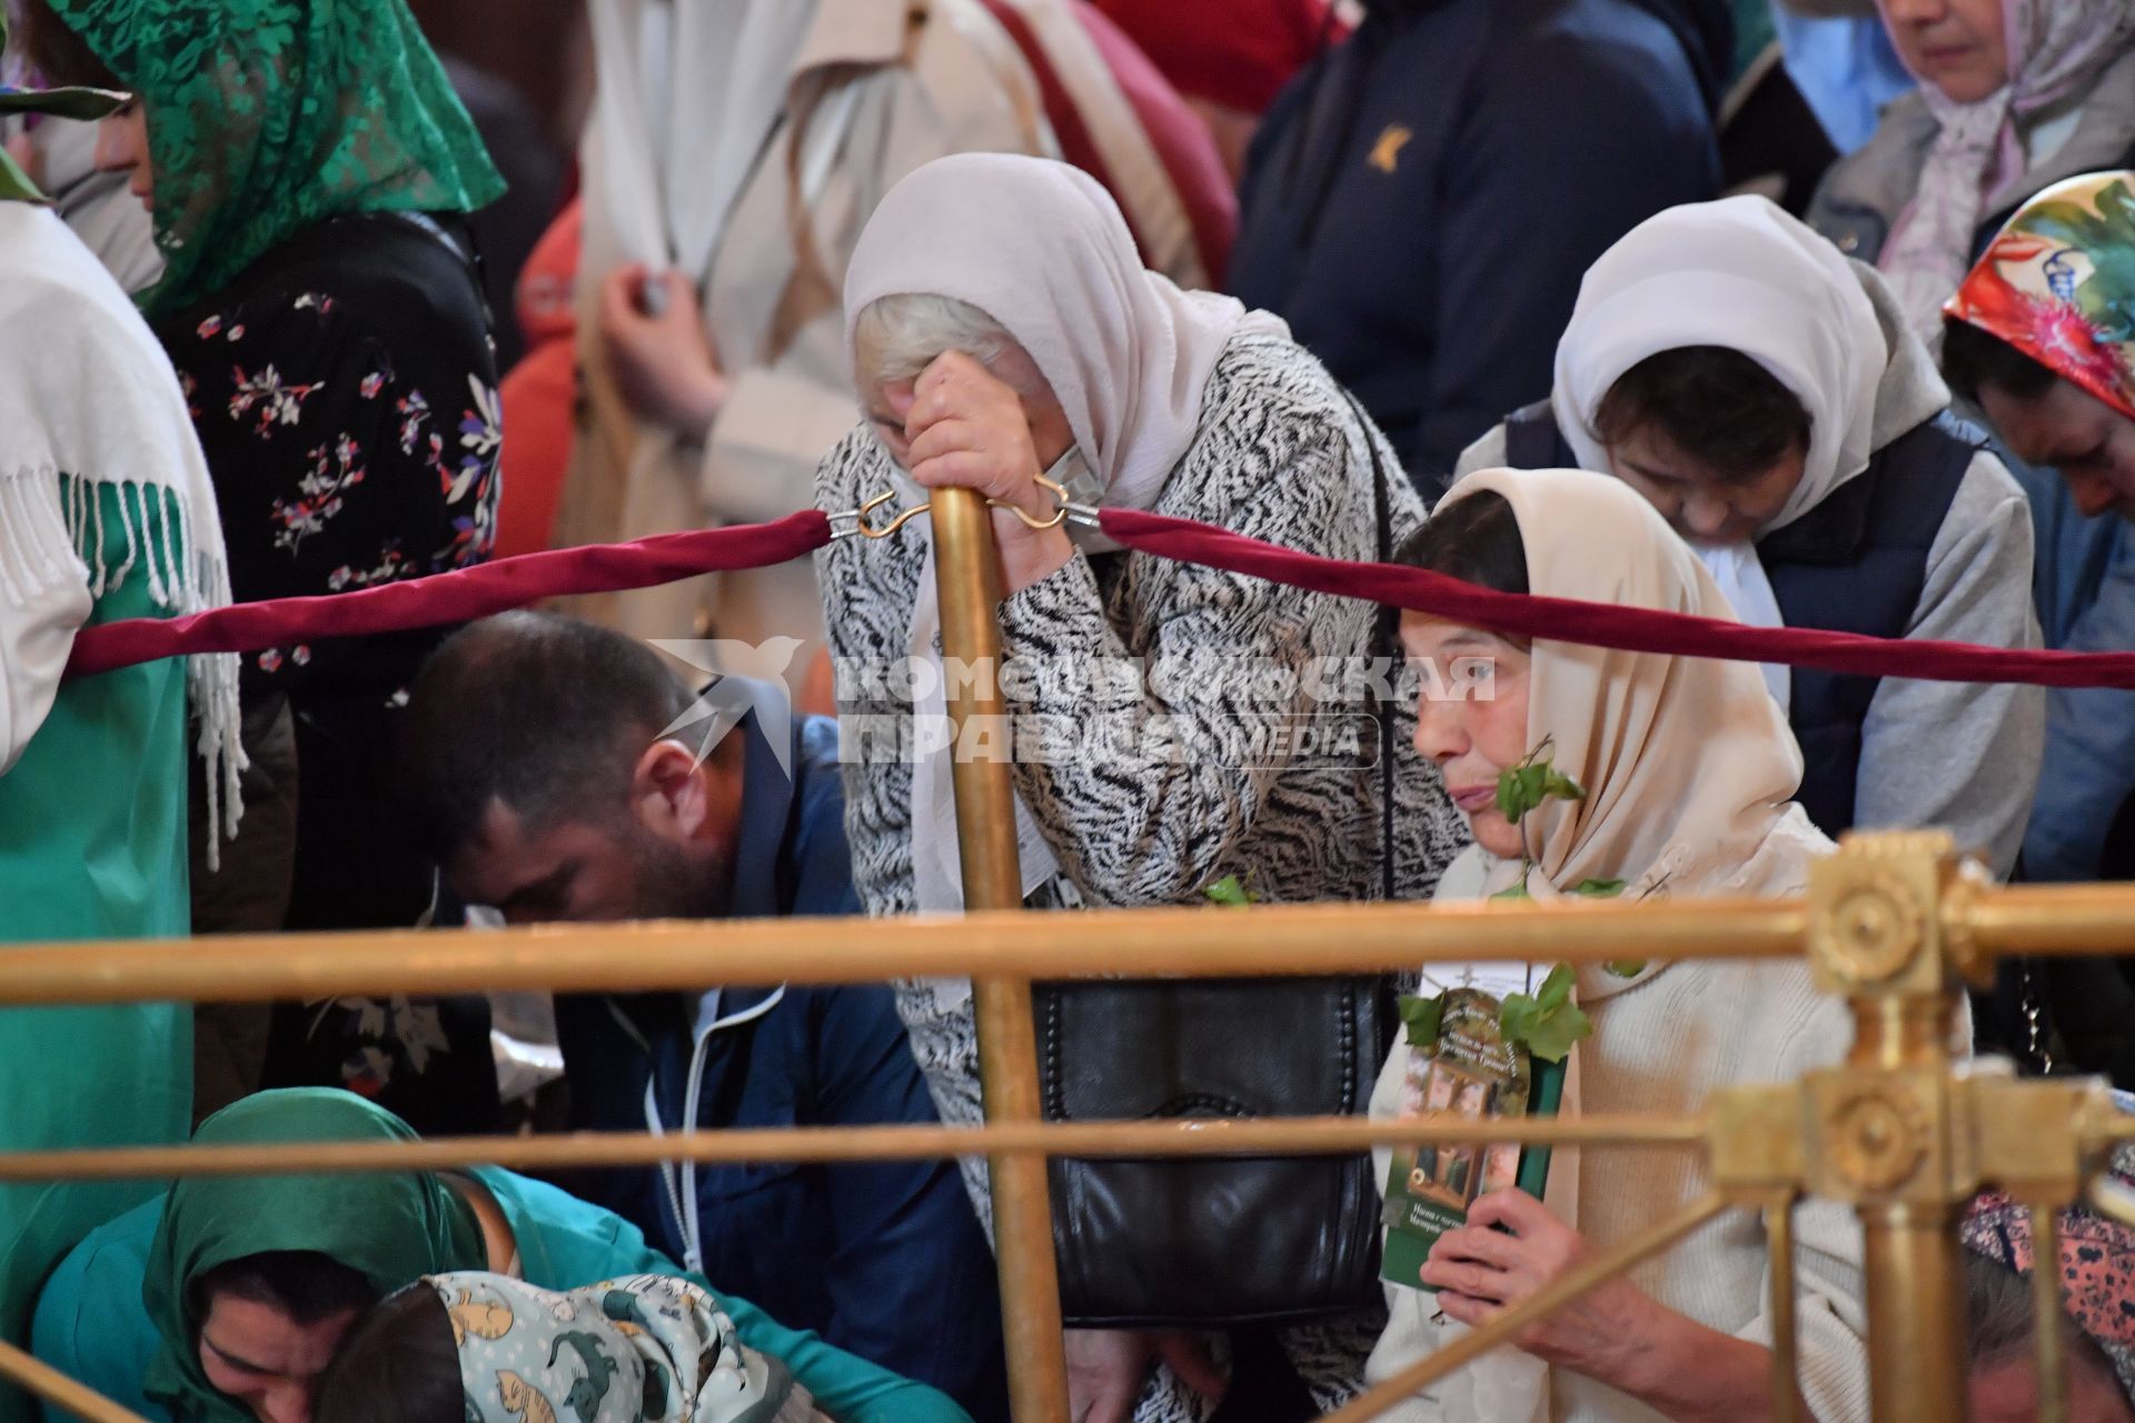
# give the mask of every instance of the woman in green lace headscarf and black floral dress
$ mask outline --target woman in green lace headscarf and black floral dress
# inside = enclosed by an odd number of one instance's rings
[[[190,397],[235,597],[487,559],[497,371],[465,213],[504,183],[406,0],[32,0],[23,21],[41,70],[132,94],[98,166],[154,213],[164,273],[141,303]],[[246,657],[254,834],[196,875],[199,932],[410,926],[427,909],[382,768],[440,636]],[[354,1086],[423,1131],[480,1131],[489,1033],[465,1018],[288,1011],[267,1082]]]

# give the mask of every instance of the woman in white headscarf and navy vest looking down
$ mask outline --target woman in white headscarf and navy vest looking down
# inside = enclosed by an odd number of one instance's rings
[[[2030,508],[1949,414],[1883,279],[1766,203],[1667,209],[1588,269],[1556,386],[1460,471],[1616,474],[1697,546],[1744,623],[2037,646]],[[2035,687],[1766,668],[1825,832],[1941,826],[2015,864]]]

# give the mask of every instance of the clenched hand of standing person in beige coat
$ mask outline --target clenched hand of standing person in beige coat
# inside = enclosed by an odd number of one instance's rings
[[[690,439],[705,439],[726,405],[696,288],[679,271],[632,262],[600,286],[600,343],[630,410]]]

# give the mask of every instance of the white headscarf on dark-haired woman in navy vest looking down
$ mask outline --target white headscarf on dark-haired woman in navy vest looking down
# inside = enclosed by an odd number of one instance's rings
[[[1738,350],[1808,410],[1802,482],[1759,535],[1787,527],[1868,467],[1889,343],[1838,247],[1770,201],[1672,207],[1586,271],[1556,343],[1550,395],[1582,467],[1610,467],[1593,427],[1610,388],[1646,356],[1680,346]],[[1736,617],[1757,627],[1783,623],[1753,544],[1702,544],[1697,553]],[[1785,668],[1768,668],[1766,685],[1785,704]]]

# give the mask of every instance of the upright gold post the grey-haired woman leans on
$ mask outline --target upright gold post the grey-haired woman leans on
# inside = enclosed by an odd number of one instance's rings
[[[1001,700],[999,557],[993,514],[969,489],[937,489],[933,503],[935,589],[942,602],[942,663],[954,736],[956,838],[965,909],[1021,909],[1016,787],[1010,779],[1008,708]],[[984,747],[984,751],[980,751]],[[974,977],[978,1077],[989,1122],[1035,1122],[1038,1030],[1031,984]],[[1008,1402],[1016,1423],[1068,1423],[1068,1359],[1061,1336],[1053,1201],[1040,1152],[986,1158],[993,1182],[993,1248],[1001,1269],[1008,1338]]]

